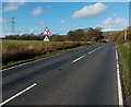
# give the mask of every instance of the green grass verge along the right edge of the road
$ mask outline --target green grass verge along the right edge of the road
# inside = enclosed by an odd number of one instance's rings
[[[121,59],[126,102],[127,104],[131,104],[131,47],[129,45],[119,44],[119,56]]]

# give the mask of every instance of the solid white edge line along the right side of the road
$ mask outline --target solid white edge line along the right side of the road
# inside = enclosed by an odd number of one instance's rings
[[[123,97],[122,97],[122,87],[121,87],[117,46],[116,46],[116,60],[117,60],[118,102],[119,102],[119,106],[122,107],[123,106]]]

